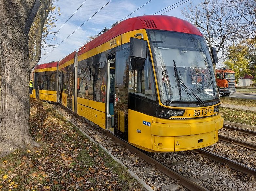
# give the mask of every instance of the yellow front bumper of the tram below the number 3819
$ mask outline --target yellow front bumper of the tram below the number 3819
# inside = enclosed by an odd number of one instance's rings
[[[220,114],[171,123],[164,121],[155,118],[152,123],[152,149],[155,152],[184,151],[212,145],[218,141],[218,130],[223,127]]]

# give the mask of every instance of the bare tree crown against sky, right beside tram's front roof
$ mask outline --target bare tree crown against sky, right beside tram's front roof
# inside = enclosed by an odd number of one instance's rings
[[[232,26],[234,17],[230,15],[230,11],[230,7],[224,1],[211,0],[208,4],[190,4],[182,14],[216,47],[217,53],[223,53],[235,34]]]

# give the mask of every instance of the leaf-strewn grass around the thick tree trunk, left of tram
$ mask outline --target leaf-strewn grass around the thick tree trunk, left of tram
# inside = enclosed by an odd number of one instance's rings
[[[50,105],[30,100],[30,132],[39,148],[1,160],[0,190],[144,190],[126,169]]]

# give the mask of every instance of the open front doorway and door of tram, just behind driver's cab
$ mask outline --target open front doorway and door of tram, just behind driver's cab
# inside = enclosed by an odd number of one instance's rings
[[[108,56],[107,130],[128,140],[129,48]]]

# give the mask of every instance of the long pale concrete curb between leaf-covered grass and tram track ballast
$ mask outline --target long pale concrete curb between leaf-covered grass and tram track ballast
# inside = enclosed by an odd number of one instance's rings
[[[46,102],[48,103],[48,102]],[[49,103],[48,103],[49,104]],[[50,104],[49,104],[50,105]],[[50,105],[52,108],[55,109],[55,107],[53,107],[52,105]],[[61,116],[62,113],[60,111],[58,111],[57,109],[55,109],[55,111],[59,112],[59,114]],[[75,127],[77,127],[76,124],[74,124],[72,121],[70,121],[69,119],[67,119],[65,116],[63,116],[67,121],[69,121],[70,123],[72,123]],[[97,143],[96,141],[94,141],[94,139],[92,139],[89,135],[87,135],[83,130],[81,130],[79,127],[77,127],[77,129],[79,129],[88,139],[90,139],[94,144],[98,145],[100,148],[102,148],[106,153],[108,153],[109,156],[111,156],[116,162],[118,162],[119,164],[121,164],[122,166],[124,166],[127,171],[129,172],[129,174],[135,178],[141,185],[143,185],[143,187],[148,190],[148,191],[154,191],[149,185],[147,185],[143,180],[141,180],[134,172],[132,172],[130,169],[128,169],[124,163],[122,163],[118,158],[116,158],[115,156],[112,155],[112,153],[107,150],[104,146],[102,146],[101,144]]]

